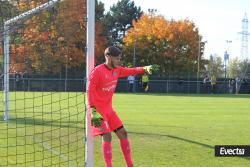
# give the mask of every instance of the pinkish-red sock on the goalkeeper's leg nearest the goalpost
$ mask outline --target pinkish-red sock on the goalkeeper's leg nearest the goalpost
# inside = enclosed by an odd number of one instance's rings
[[[112,167],[111,142],[102,141],[102,154],[106,167]]]

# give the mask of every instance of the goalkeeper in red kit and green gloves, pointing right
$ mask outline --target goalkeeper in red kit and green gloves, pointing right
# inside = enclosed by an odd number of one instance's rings
[[[119,138],[126,166],[132,167],[127,131],[112,107],[112,96],[118,78],[143,73],[152,74],[158,66],[121,67],[121,51],[114,46],[106,48],[104,56],[105,63],[95,67],[88,78],[87,98],[93,134],[102,136],[102,152],[106,167],[112,167],[111,132]]]

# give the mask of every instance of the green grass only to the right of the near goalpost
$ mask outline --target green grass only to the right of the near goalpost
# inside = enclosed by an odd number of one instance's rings
[[[250,95],[116,94],[113,104],[138,167],[250,166],[250,158],[214,156],[217,144],[250,145]],[[114,166],[125,166],[115,135],[112,146]]]

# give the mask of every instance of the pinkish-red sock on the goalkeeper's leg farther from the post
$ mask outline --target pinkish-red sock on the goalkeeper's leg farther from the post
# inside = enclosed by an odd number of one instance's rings
[[[131,159],[131,154],[130,154],[130,146],[129,146],[129,141],[128,138],[120,140],[120,146],[121,150],[124,156],[124,159],[126,161],[127,167],[132,167],[132,159]]]

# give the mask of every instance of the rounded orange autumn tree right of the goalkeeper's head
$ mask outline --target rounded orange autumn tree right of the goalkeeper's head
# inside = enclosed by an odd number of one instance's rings
[[[199,45],[199,38],[198,28],[189,20],[168,21],[160,15],[143,14],[124,38],[125,61],[133,62],[135,50],[136,65],[159,64],[165,75],[194,73],[198,56],[204,62],[205,43]]]

